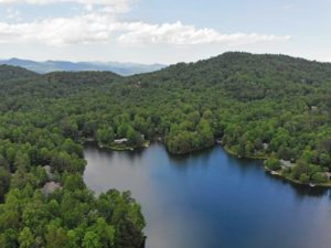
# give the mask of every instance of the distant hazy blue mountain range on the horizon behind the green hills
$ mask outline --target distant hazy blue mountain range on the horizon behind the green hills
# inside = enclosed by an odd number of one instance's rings
[[[52,72],[81,72],[81,71],[103,71],[113,72],[122,76],[129,76],[140,73],[150,73],[159,71],[167,65],[161,64],[136,64],[136,63],[118,63],[118,62],[66,62],[66,61],[46,61],[35,62],[29,60],[10,58],[2,60],[0,64],[24,67],[35,73],[45,74]]]

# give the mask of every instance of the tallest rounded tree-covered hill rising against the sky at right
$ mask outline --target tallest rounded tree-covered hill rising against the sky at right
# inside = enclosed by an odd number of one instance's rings
[[[179,83],[182,87],[222,87],[234,98],[256,100],[264,97],[306,95],[311,87],[328,86],[331,64],[311,62],[286,55],[224,53],[197,63],[180,63],[152,74],[139,75],[141,80]]]

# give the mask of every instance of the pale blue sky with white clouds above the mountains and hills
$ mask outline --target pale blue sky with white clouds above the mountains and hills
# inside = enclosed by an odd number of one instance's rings
[[[331,62],[331,0],[0,0],[0,57],[195,62],[228,51]]]

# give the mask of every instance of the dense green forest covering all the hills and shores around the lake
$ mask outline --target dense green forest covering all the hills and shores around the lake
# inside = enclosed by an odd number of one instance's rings
[[[143,247],[130,193],[84,184],[86,141],[159,139],[173,154],[218,142],[296,183],[331,185],[328,63],[225,53],[130,77],[3,65],[0,89],[0,247]]]

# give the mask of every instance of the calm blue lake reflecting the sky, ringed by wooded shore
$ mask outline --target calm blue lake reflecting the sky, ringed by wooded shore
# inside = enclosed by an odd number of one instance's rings
[[[330,248],[330,190],[292,185],[222,147],[172,157],[164,147],[85,148],[96,193],[131,191],[147,220],[147,248]]]

